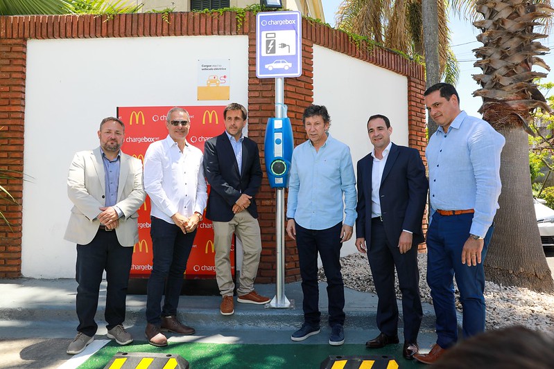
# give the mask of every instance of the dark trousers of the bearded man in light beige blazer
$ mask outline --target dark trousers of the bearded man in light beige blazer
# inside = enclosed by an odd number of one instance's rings
[[[77,245],[76,308],[79,318],[78,332],[94,336],[98,325],[94,321],[98,308],[98,292],[102,275],[106,271],[107,291],[104,318],[111,330],[125,321],[125,299],[132,262],[132,247],[123,247],[115,231],[98,230],[89,244]]]

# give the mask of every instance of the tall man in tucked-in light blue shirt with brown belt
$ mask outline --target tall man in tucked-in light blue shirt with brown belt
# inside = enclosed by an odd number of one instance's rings
[[[429,354],[414,357],[430,364],[458,340],[455,274],[465,338],[485,330],[482,261],[499,208],[500,154],[505,138],[485,120],[460,110],[460,98],[451,84],[435,84],[424,96],[429,115],[439,125],[426,148],[431,199],[427,282],[437,316],[438,338]]]

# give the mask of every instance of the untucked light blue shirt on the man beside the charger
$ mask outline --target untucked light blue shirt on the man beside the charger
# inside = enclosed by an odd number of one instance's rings
[[[306,229],[331,228],[343,217],[354,226],[356,179],[347,145],[328,135],[317,152],[311,141],[295,148],[286,216]]]

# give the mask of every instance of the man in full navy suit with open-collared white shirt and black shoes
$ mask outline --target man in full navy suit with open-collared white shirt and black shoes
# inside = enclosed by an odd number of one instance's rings
[[[404,314],[403,355],[412,359],[419,350],[417,334],[423,316],[417,244],[424,241],[422,217],[429,182],[419,152],[390,142],[392,127],[386,116],[371,116],[367,133],[374,150],[358,161],[356,247],[370,261],[381,334],[365,345],[382,348],[399,342],[396,267]]]

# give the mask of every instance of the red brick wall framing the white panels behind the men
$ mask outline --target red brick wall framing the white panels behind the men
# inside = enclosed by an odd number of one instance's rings
[[[107,17],[92,15],[0,17],[0,168],[23,171],[24,93],[26,39],[147,37],[182,35],[248,35],[248,134],[260,147],[265,167],[263,137],[266,120],[275,115],[275,83],[258,79],[255,71],[255,15],[244,19],[236,13],[198,14],[176,12],[165,21],[161,14],[133,14]],[[383,48],[356,44],[349,36],[307,19],[302,19],[302,75],[286,78],[284,102],[293,122],[295,143],[305,140],[302,113],[313,102],[313,45],[356,57],[408,78],[409,145],[423,152],[425,111],[423,109],[424,69],[415,62]],[[22,179],[0,179],[0,185],[12,192],[21,204]],[[264,177],[259,201],[259,222],[263,251],[258,282],[275,282],[275,190]],[[21,207],[0,202],[0,209],[12,224],[12,231],[0,225],[0,278],[21,276]],[[286,240],[285,279],[300,279],[296,247]]]

